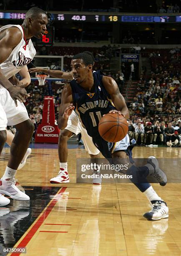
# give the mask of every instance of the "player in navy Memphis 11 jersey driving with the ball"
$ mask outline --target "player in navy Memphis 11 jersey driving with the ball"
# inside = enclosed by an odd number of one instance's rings
[[[58,126],[61,130],[67,126],[68,117],[76,106],[88,135],[93,138],[93,142],[103,156],[116,160],[119,157],[126,158],[126,151],[118,151],[119,142],[116,143],[117,151],[112,154],[108,142],[98,133],[99,120],[106,113],[123,114],[125,118],[129,118],[126,102],[114,79],[103,76],[100,71],[93,73],[92,67],[93,60],[88,54],[76,54],[73,57],[71,68],[74,79],[63,89]],[[111,104],[111,100],[115,107]],[[147,176],[153,175],[162,186],[166,184],[166,175],[159,169],[156,158],[149,157],[146,166],[138,168],[132,165],[126,174],[137,177],[138,182],[133,181],[133,183],[152,204],[152,210],[143,216],[148,220],[167,218],[166,202],[156,194],[146,179]]]

